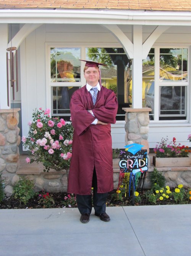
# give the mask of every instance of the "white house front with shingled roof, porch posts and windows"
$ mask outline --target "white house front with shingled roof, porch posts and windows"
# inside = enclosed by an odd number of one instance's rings
[[[102,61],[103,85],[116,90],[113,148],[125,145],[123,107],[149,112],[149,147],[168,136],[189,145],[191,1],[0,0],[0,109],[21,108],[20,135],[35,108],[70,119],[84,63]],[[18,92],[7,104],[6,49],[18,49]]]

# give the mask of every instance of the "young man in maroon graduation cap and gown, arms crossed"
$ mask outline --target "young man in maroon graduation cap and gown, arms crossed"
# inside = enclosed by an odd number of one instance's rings
[[[107,192],[113,190],[111,124],[116,122],[118,103],[115,93],[99,84],[99,65],[86,61],[86,86],[70,101],[74,135],[68,193],[76,193],[82,223],[91,214],[92,187],[95,215],[110,221],[105,210]]]

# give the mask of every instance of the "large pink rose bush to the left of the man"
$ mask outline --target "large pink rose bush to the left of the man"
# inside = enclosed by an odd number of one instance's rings
[[[28,137],[22,137],[24,148],[29,150],[27,163],[41,162],[44,172],[50,168],[67,170],[70,166],[73,127],[58,117],[50,118],[50,109],[35,109],[29,122]]]

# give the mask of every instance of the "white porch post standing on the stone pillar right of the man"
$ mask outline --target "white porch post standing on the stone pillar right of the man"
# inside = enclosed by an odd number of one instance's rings
[[[132,107],[142,108],[142,25],[133,25]]]

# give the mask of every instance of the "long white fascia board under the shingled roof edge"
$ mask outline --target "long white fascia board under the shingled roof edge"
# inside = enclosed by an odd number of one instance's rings
[[[191,12],[0,10],[0,23],[191,25]]]

